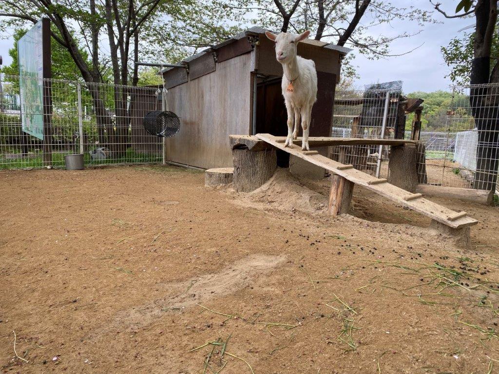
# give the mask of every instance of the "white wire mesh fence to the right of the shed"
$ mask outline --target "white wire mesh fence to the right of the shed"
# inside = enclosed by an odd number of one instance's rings
[[[332,136],[393,137],[402,96],[396,91],[377,91],[377,96],[367,89],[337,92]],[[389,97],[386,109],[383,95]],[[439,130],[423,127],[416,137],[424,145],[418,148],[424,149],[418,157],[420,183],[495,190],[499,194],[499,84],[454,87],[447,113],[439,121],[434,126]],[[407,130],[397,137],[412,139],[413,134]],[[335,147],[332,157],[373,174],[380,163],[381,176],[388,176],[387,149],[378,153],[373,146]]]

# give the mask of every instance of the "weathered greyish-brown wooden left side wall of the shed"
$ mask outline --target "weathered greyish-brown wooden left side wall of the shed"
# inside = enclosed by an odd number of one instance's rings
[[[166,141],[167,160],[205,169],[231,167],[229,135],[250,133],[250,53],[170,88],[168,104],[182,127]]]

